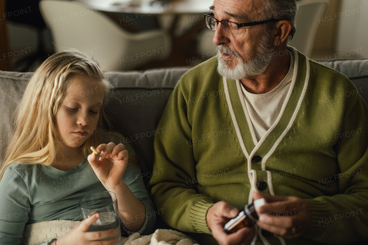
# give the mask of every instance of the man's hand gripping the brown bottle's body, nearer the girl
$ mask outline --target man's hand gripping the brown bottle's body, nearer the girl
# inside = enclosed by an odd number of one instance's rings
[[[227,234],[224,231],[224,225],[237,214],[238,210],[224,201],[217,202],[208,209],[207,226],[220,245],[248,245],[252,242],[254,228],[244,227],[233,234]]]

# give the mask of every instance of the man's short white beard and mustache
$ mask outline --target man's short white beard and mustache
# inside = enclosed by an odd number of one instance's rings
[[[270,40],[269,33],[263,35],[259,47],[256,50],[255,56],[250,61],[244,61],[238,52],[234,52],[228,47],[222,45],[217,46],[217,71],[222,77],[230,78],[234,80],[240,80],[242,78],[248,78],[256,75],[260,75],[266,71],[266,68],[272,60],[274,51],[273,46],[268,45]],[[238,63],[234,68],[230,68],[230,62],[222,58],[221,52],[230,54],[236,57]]]

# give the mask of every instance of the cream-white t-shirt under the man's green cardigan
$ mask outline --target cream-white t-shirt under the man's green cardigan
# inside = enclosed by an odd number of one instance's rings
[[[288,50],[289,51],[289,50]],[[286,99],[287,92],[291,85],[294,74],[294,56],[290,53],[290,69],[286,77],[280,82],[276,88],[268,93],[259,95],[253,94],[245,90],[241,84],[245,105],[247,106],[248,115],[253,125],[254,133],[259,141],[267,130],[275,123],[277,116],[281,111],[281,107]]]

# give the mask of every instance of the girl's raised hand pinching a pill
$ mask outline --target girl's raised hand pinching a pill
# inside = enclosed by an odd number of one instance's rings
[[[87,157],[96,176],[107,190],[120,187],[128,164],[128,151],[123,144],[113,142],[101,144],[96,150],[100,152],[99,160],[93,152]]]

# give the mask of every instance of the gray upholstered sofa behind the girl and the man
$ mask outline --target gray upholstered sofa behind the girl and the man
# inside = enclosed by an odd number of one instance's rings
[[[368,103],[368,59],[322,63],[350,78]],[[106,113],[114,129],[131,141],[139,156],[145,183],[152,175],[154,136],[164,132],[164,129],[156,127],[172,90],[181,75],[188,70],[189,68],[171,68],[106,73],[116,88]],[[31,72],[0,71],[0,159],[3,159],[7,139],[11,137],[11,116],[31,75]],[[157,227],[165,228],[159,219]]]

